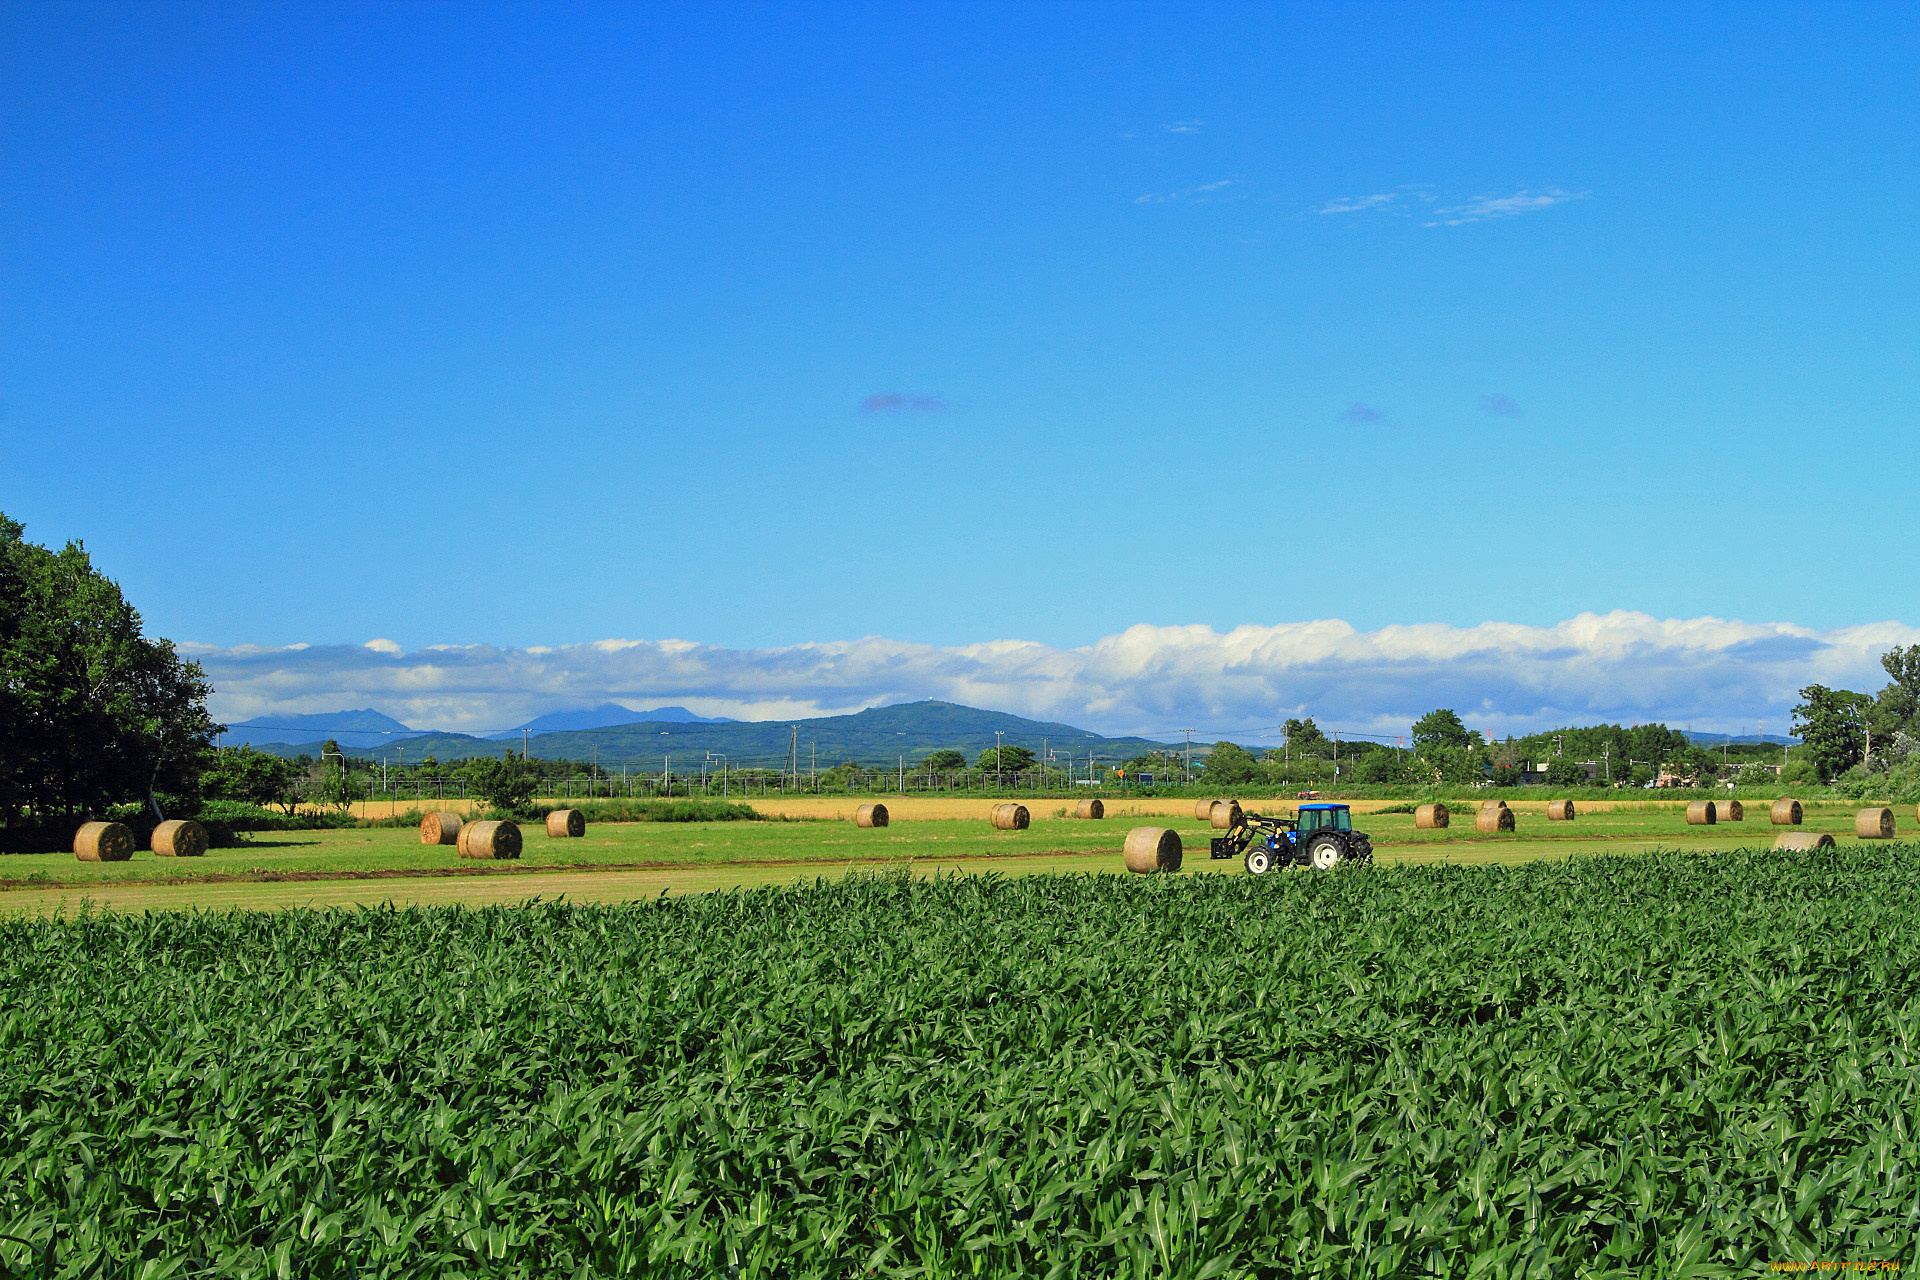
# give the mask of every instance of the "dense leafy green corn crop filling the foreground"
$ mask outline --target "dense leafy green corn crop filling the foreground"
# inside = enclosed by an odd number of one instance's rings
[[[0,925],[17,1276],[1916,1257],[1920,850]]]

